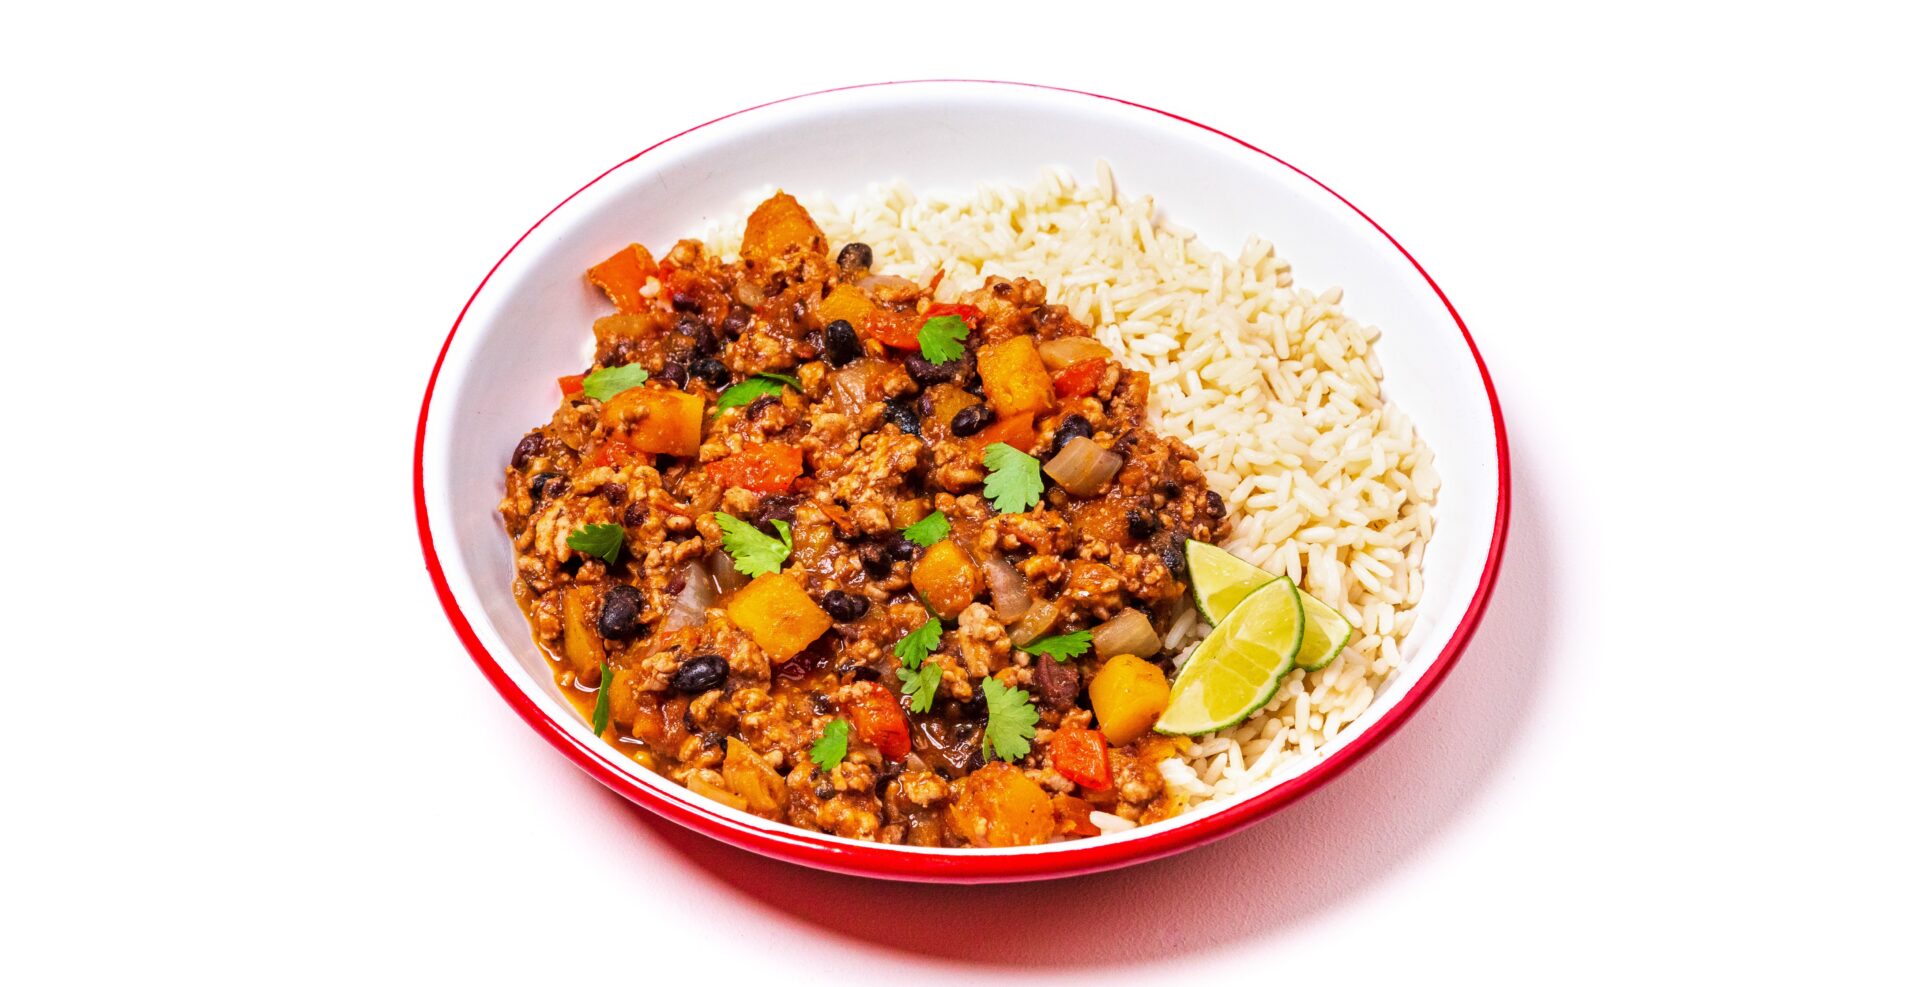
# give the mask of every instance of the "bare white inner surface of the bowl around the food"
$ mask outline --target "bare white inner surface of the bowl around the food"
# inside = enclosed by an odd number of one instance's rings
[[[1288,157],[1288,148],[1269,150]],[[493,273],[440,371],[424,490],[453,595],[520,691],[593,747],[513,601],[513,553],[495,511],[507,455],[530,426],[553,415],[553,380],[591,359],[589,326],[607,303],[582,278],[589,265],[630,242],[659,253],[732,215],[745,194],[764,186],[849,196],[902,179],[920,190],[966,190],[979,182],[1027,184],[1050,165],[1091,181],[1096,159],[1112,163],[1123,192],[1152,194],[1171,223],[1215,250],[1236,252],[1248,234],[1260,234],[1292,261],[1298,284],[1346,288],[1346,311],[1380,326],[1386,394],[1413,417],[1442,478],[1427,591],[1405,641],[1405,664],[1334,745],[1294,760],[1244,797],[1311,768],[1404,701],[1467,613],[1498,503],[1492,409],[1446,305],[1365,219],[1258,152],[1150,109],[983,83],[828,92],[712,123],[614,169],[547,217]],[[612,751],[605,760],[670,799],[747,826],[797,831],[697,799]],[[1100,839],[1177,828],[1198,814]]]

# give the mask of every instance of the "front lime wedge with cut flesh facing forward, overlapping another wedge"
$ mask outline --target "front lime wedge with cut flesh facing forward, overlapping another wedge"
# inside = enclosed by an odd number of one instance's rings
[[[1210,734],[1252,716],[1292,670],[1306,624],[1292,580],[1277,578],[1254,590],[1181,666],[1154,730]]]

